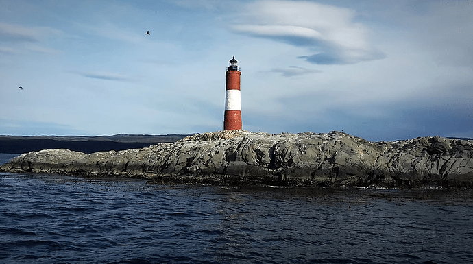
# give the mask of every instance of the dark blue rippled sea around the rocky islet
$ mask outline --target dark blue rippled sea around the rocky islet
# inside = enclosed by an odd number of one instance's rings
[[[0,263],[473,263],[473,191],[0,173]]]

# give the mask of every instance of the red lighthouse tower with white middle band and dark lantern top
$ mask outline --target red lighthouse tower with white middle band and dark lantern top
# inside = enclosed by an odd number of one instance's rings
[[[227,67],[227,84],[225,89],[225,116],[223,117],[223,130],[241,130],[241,93],[240,93],[240,67],[233,56]]]

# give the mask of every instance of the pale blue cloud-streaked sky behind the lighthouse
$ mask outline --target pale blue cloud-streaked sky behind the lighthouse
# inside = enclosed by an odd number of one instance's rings
[[[235,56],[243,130],[473,138],[472,18],[473,0],[0,0],[0,134],[222,130]]]

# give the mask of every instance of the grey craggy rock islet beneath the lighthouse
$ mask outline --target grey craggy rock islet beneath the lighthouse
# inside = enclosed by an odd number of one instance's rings
[[[473,141],[433,136],[370,142],[336,131],[232,130],[118,152],[45,149],[13,158],[0,171],[153,184],[473,189]]]

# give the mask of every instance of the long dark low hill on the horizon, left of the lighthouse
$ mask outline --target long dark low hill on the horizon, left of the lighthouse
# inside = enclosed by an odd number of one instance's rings
[[[1,136],[0,153],[37,152],[41,149],[70,149],[90,154],[110,150],[149,147],[159,143],[175,142],[192,134],[113,136]]]

